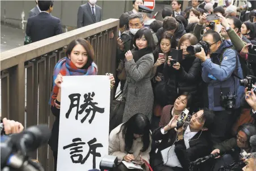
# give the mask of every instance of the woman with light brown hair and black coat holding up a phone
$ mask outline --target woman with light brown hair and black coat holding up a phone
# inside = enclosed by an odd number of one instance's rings
[[[164,77],[168,78],[168,104],[174,104],[178,94],[189,92],[193,95],[193,101],[196,103],[193,104],[193,107],[199,106],[198,89],[202,68],[200,60],[186,51],[187,47],[196,45],[197,42],[198,40],[193,34],[184,34],[178,42],[178,49],[182,49],[182,60],[175,62],[174,56],[168,56],[168,67],[164,68]]]

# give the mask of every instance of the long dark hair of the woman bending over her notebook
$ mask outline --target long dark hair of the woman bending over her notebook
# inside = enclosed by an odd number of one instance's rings
[[[126,152],[129,152],[133,146],[133,134],[143,135],[143,148],[140,150],[141,152],[146,151],[150,146],[150,120],[148,120],[146,115],[141,113],[135,114],[121,126],[120,131],[122,131],[123,138],[125,139]]]

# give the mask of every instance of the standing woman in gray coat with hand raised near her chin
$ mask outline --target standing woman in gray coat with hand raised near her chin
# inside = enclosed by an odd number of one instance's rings
[[[143,113],[151,120],[153,108],[153,89],[151,72],[154,64],[155,43],[152,32],[141,28],[134,36],[135,48],[125,54],[126,84],[123,90],[126,98],[123,122],[136,113]]]

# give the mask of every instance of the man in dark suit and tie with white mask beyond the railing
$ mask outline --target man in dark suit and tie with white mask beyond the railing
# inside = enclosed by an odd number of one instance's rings
[[[102,9],[96,5],[97,0],[89,0],[88,3],[78,8],[77,28],[100,22]]]

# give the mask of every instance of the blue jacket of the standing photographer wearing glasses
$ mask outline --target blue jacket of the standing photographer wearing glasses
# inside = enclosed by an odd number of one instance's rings
[[[220,90],[222,90],[223,95],[227,95],[229,91],[234,94],[234,89],[236,88],[236,108],[240,107],[241,98],[245,90],[244,86],[240,86],[239,78],[231,76],[232,73],[236,73],[239,77],[243,78],[241,64],[236,51],[226,49],[228,47],[231,48],[232,43],[224,40],[219,49],[211,54],[211,59],[207,59],[202,63],[202,78],[204,82],[208,83],[209,108],[213,111],[225,110],[225,108],[220,106]],[[220,62],[221,54],[223,54],[222,62],[215,64]],[[209,74],[212,74],[216,79],[208,77]]]

